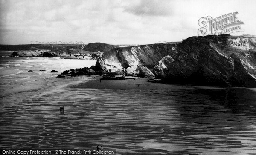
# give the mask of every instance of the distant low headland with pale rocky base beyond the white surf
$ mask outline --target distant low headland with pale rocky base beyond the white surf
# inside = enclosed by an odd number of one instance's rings
[[[29,44],[0,45],[0,50],[15,51],[11,56],[18,57],[65,57],[70,59],[97,59],[103,52],[116,45],[106,43],[86,44]]]

